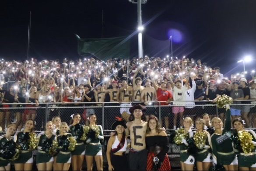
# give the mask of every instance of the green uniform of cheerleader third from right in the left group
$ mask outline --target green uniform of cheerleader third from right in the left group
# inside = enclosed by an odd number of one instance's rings
[[[58,151],[56,157],[56,163],[71,163],[71,153],[70,150],[68,150],[68,147],[65,146],[67,144],[67,138],[71,137],[72,135],[70,133],[67,133],[67,135],[59,135],[55,137],[55,140],[58,142]]]

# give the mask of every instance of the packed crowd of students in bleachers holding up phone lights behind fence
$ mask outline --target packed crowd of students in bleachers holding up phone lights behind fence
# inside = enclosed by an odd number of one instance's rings
[[[128,121],[130,117],[128,109],[133,102],[148,106],[147,119],[154,115],[158,117],[158,109],[150,107],[155,101],[164,101],[161,102],[161,106],[165,108],[159,114],[162,115],[159,122],[166,129],[177,129],[183,124],[183,115],[193,115],[196,118],[208,113],[212,118],[218,114],[224,121],[224,110],[221,108],[217,113],[212,106],[193,106],[209,104],[210,102],[205,100],[213,100],[217,95],[222,94],[230,95],[235,99],[236,106],[231,107],[233,119],[241,115],[247,127],[256,127],[254,117],[256,107],[253,105],[256,99],[254,72],[250,75],[245,73],[231,75],[228,79],[220,73],[219,67],[212,69],[207,63],[185,57],[161,59],[145,56],[140,59],[133,58],[128,65],[127,63],[128,60],[124,59],[109,59],[104,62],[93,58],[77,61],[63,59],[63,62],[59,60],[39,62],[32,58],[22,63],[1,59],[0,82],[3,85],[0,90],[0,100],[3,109],[0,109],[0,126],[2,130],[4,131],[5,126],[12,120],[15,120],[17,129],[21,130],[27,119],[35,120],[37,122],[35,129],[42,130],[45,125],[43,122],[45,116],[42,115],[44,109],[36,107],[44,107],[44,103],[55,103],[50,107],[70,107],[51,108],[49,119],[60,115],[63,121],[68,122],[70,113],[81,113],[84,122],[88,122],[86,119],[90,114],[96,114],[98,117],[102,115],[100,108],[93,107],[102,106],[103,102],[112,102],[109,106],[120,106],[120,110],[105,109],[109,119],[105,129],[111,129],[110,123],[114,121],[112,113],[115,115],[119,113],[120,117]],[[192,102],[193,100],[198,102]],[[71,102],[75,104],[71,105]],[[88,104],[81,105],[80,102]],[[27,105],[19,105],[19,103],[27,103]],[[249,105],[251,103],[252,105]],[[71,108],[72,106],[83,106],[83,108]],[[13,110],[8,109],[9,107],[20,108]]]

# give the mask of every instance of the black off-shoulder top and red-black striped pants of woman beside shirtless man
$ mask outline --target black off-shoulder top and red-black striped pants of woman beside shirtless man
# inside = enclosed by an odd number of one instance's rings
[[[170,171],[171,164],[167,155],[169,150],[169,142],[167,136],[146,136],[146,146],[148,150],[147,171],[154,170],[154,157],[158,157],[159,159],[159,171]],[[157,147],[160,147],[160,149],[158,150]]]

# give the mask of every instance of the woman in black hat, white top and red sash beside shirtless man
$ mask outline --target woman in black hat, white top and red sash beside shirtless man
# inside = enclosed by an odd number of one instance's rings
[[[112,130],[115,130],[115,134],[109,138],[107,146],[107,160],[109,165],[109,171],[127,171],[128,161],[125,156],[127,148],[127,139],[125,136],[126,124],[124,119],[116,118],[116,121],[112,124]]]

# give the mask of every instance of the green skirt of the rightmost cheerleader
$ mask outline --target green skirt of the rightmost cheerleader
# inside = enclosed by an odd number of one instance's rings
[[[252,164],[256,163],[256,152],[250,154],[240,153],[237,157],[238,167],[250,168]]]

